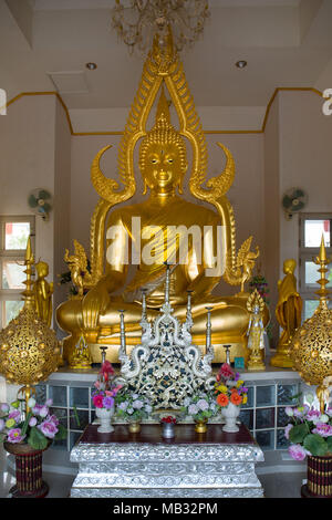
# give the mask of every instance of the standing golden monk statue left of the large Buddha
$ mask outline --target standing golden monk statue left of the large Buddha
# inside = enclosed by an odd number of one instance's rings
[[[49,266],[46,262],[39,261],[34,264],[37,280],[34,281],[34,299],[38,315],[49,326],[52,321],[52,294],[53,282],[49,283],[45,278],[49,275]]]

